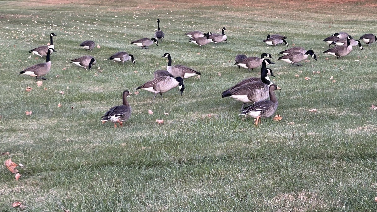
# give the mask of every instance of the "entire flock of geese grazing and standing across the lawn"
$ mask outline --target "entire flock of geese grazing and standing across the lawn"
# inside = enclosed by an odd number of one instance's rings
[[[152,38],[141,38],[139,40],[132,41],[130,44],[144,49],[148,49],[148,47],[153,45],[153,43],[158,46],[158,42],[163,41],[165,34],[160,29],[159,19],[157,19],[157,26],[158,29],[155,31]],[[189,42],[195,43],[196,45],[202,47],[209,43],[227,43],[228,40],[227,35],[224,33],[225,30],[227,29],[223,27],[221,34],[193,31],[187,32],[184,35],[187,35],[190,38]],[[36,77],[37,80],[46,80],[44,76],[48,74],[51,69],[50,55],[52,52],[56,52],[55,45],[53,43],[53,37],[55,36],[57,35],[54,33],[50,34],[50,45],[38,46],[37,48],[29,51],[29,53],[40,57],[46,57],[46,62],[26,68],[25,70],[21,71],[20,74]],[[362,35],[359,40],[355,40],[346,32],[337,32],[323,40],[329,45],[329,47],[331,45],[335,46],[327,49],[323,53],[336,56],[337,58],[345,57],[351,53],[352,46],[359,46],[361,50],[363,49],[360,40],[368,46],[370,46],[372,43],[377,43],[377,37],[373,34],[365,34]],[[279,44],[288,46],[287,37],[279,34],[267,35],[267,38],[262,40],[262,42],[271,46],[276,46]],[[83,49],[90,51],[95,47],[95,42],[92,40],[86,40],[83,41],[80,46]],[[317,60],[317,55],[312,49],[305,50],[302,47],[293,47],[285,51],[281,51],[279,54],[282,56],[277,58],[277,60],[282,60],[297,66],[302,66],[299,64],[299,62],[306,60],[308,57],[312,57],[314,60]],[[152,80],[147,81],[143,85],[136,88],[136,90],[143,89],[154,93],[155,95],[153,97],[153,101],[155,100],[157,94],[160,94],[162,97],[163,93],[176,87],[179,87],[179,92],[182,95],[183,91],[185,90],[184,79],[196,75],[202,75],[201,72],[195,71],[187,66],[172,65],[172,56],[169,53],[162,55],[161,58],[168,59],[166,70],[155,71],[153,73],[154,78]],[[271,61],[271,59],[273,59],[273,57],[268,53],[262,53],[261,57],[247,57],[245,54],[236,55],[234,65],[237,65],[238,68],[242,67],[248,70],[251,69],[251,71],[254,71],[254,69],[261,66],[261,76],[244,79],[221,94],[222,98],[231,97],[235,100],[241,101],[243,104],[239,115],[248,115],[256,118],[256,125],[258,125],[260,118],[271,117],[276,112],[279,105],[275,91],[279,90],[280,88],[270,80],[269,76],[274,77],[274,75],[272,69],[267,68],[268,65],[275,64]],[[122,63],[130,61],[131,63],[135,64],[135,58],[133,55],[124,51],[113,54],[107,60]],[[97,60],[90,55],[84,55],[80,58],[72,59],[70,63],[84,69],[91,69],[91,67],[97,63]],[[130,118],[132,112],[132,109],[127,101],[127,97],[130,95],[130,91],[124,91],[122,95],[123,104],[120,106],[115,106],[107,111],[101,117],[102,123],[106,123],[106,121],[110,120],[114,124],[115,128],[117,127],[117,124],[119,124],[120,127],[123,126],[123,122]],[[246,106],[246,104],[250,105]]]

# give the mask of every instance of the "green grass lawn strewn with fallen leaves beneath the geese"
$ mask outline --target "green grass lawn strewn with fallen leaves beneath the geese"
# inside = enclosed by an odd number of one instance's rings
[[[377,104],[377,45],[337,60],[322,53],[322,40],[339,31],[356,39],[377,34],[377,5],[339,4],[1,1],[0,153],[10,154],[0,162],[25,167],[15,181],[1,166],[0,211],[376,211],[377,125],[369,108]],[[157,18],[164,41],[149,49],[130,45],[152,38]],[[184,36],[224,26],[228,43],[200,48]],[[18,73],[45,61],[28,51],[46,45],[51,32],[57,52],[37,87]],[[276,33],[289,47],[313,49],[318,61],[276,61],[286,46],[261,43]],[[85,51],[84,40],[101,48]],[[118,51],[133,54],[135,65],[106,60]],[[128,99],[133,111],[123,128],[101,124],[124,90],[133,93],[166,69],[167,52],[173,65],[202,76],[185,79],[182,96],[173,89],[152,102],[142,90]],[[262,53],[275,58],[268,67],[282,88],[276,114],[283,118],[256,127],[253,118],[239,117],[242,103],[221,92],[260,75],[233,66],[237,54]],[[82,55],[97,64],[84,70],[69,63]],[[25,209],[13,208],[15,201]]]

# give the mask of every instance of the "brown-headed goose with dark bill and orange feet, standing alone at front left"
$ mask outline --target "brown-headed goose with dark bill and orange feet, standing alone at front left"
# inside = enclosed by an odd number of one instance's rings
[[[130,107],[130,104],[127,102],[127,97],[129,97],[130,95],[131,94],[129,91],[123,91],[123,105],[110,108],[110,110],[107,111],[106,114],[101,117],[102,123],[105,123],[106,121],[110,120],[112,123],[114,123],[114,128],[116,128],[116,123],[119,123],[119,126],[122,127],[123,122],[127,121],[131,116],[132,108]]]

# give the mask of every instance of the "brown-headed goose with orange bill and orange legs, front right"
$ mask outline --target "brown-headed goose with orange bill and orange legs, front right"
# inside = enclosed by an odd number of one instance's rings
[[[276,84],[272,84],[268,89],[270,100],[262,100],[257,101],[254,104],[250,104],[246,108],[242,109],[242,112],[239,115],[250,115],[251,117],[256,118],[255,124],[258,126],[259,118],[270,117],[276,112],[279,103],[277,102],[274,91],[277,89],[280,90]]]

